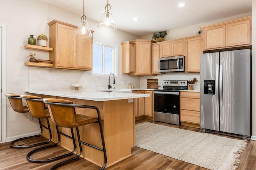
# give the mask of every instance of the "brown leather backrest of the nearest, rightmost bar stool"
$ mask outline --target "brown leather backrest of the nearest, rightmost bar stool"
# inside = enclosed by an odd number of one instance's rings
[[[75,123],[75,109],[72,107],[73,104],[70,100],[54,99],[54,98],[44,98],[45,102],[48,103],[49,112],[52,121],[58,127],[76,127]]]

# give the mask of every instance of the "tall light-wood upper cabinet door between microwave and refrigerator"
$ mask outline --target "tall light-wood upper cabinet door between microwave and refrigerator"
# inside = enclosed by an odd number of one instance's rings
[[[200,72],[200,54],[203,53],[201,35],[185,40],[186,72]]]

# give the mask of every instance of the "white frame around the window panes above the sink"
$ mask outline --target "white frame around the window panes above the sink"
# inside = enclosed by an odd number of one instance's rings
[[[106,43],[106,42],[99,41],[99,40],[93,40],[92,41],[92,46],[94,44],[102,45],[103,49],[104,49],[104,47],[109,47],[109,48],[113,49],[113,58],[112,58],[112,69],[113,69],[113,71],[112,72],[114,73],[115,77],[118,77],[118,45],[111,44],[111,43]],[[109,74],[104,74],[104,54],[102,55],[102,58],[103,58],[102,59],[102,64],[103,64],[102,72],[103,72],[103,74],[94,74],[93,73],[93,56],[92,56],[92,71],[91,71],[92,76],[109,76]]]

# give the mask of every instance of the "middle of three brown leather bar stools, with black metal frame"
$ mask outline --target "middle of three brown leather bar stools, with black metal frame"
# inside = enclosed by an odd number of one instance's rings
[[[27,95],[27,94],[23,94],[20,95],[20,97],[22,97],[22,99],[26,100],[26,104],[28,106],[28,110],[30,111],[30,113],[32,114],[33,117],[36,117],[38,119],[42,119],[42,118],[46,118],[47,120],[47,124],[49,126],[50,129],[50,123],[48,118],[50,117],[50,113],[49,113],[49,109],[45,109],[45,104],[43,102],[43,99],[38,97],[38,96],[31,96],[31,95]],[[44,163],[44,162],[52,162],[55,160],[59,160],[61,158],[65,158],[67,156],[71,156],[73,155],[73,152],[75,151],[75,147],[74,149],[67,154],[63,154],[61,156],[56,156],[54,158],[49,158],[49,159],[42,159],[42,160],[37,160],[37,159],[32,159],[30,158],[32,154],[40,151],[40,150],[45,150],[48,149],[50,147],[57,147],[58,143],[60,143],[60,135],[59,135],[59,129],[58,126],[56,125],[56,130],[57,130],[57,134],[58,134],[58,141],[56,143],[54,143],[53,145],[47,145],[45,147],[40,147],[38,149],[34,149],[32,151],[30,151],[26,158],[29,162],[33,162],[33,163]],[[52,138],[52,133],[50,132],[50,138]]]

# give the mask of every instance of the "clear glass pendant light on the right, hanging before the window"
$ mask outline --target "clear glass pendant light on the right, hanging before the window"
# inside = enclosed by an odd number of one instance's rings
[[[108,1],[103,11],[102,17],[100,18],[98,28],[110,31],[115,31],[117,29],[116,21],[112,16],[111,6],[108,4]]]

